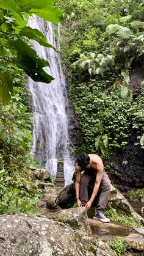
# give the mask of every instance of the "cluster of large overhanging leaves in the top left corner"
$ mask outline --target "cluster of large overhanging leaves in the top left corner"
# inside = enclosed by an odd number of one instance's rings
[[[0,100],[5,105],[13,95],[13,82],[7,65],[17,65],[34,81],[49,83],[52,76],[43,70],[49,66],[47,60],[41,59],[32,48],[29,39],[36,40],[40,45],[51,47],[45,35],[38,29],[28,27],[29,16],[35,14],[41,18],[59,23],[62,12],[54,4],[54,0],[0,0],[0,62],[5,62],[5,70],[0,70]],[[6,55],[6,57],[5,57]]]

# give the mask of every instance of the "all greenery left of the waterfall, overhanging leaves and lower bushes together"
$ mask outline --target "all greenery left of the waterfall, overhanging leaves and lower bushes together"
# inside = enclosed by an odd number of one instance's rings
[[[29,170],[30,164],[37,163],[30,154],[32,106],[26,78],[47,83],[53,79],[43,70],[49,66],[48,60],[37,55],[30,40],[54,47],[38,29],[27,26],[27,21],[37,13],[45,20],[59,23],[62,12],[54,2],[0,1],[0,214],[31,213],[41,194]]]

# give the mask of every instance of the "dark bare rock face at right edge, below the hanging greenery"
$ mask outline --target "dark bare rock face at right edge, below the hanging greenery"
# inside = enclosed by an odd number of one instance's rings
[[[144,150],[139,145],[134,145],[137,140],[135,130],[132,130],[128,145],[120,152],[113,152],[110,162],[109,177],[113,184],[121,191],[132,188],[143,188],[144,184]],[[125,162],[126,161],[126,162]]]

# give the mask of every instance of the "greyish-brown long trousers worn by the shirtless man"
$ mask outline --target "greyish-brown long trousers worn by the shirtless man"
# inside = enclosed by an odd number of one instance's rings
[[[86,172],[81,176],[81,183],[79,187],[79,197],[82,205],[88,202],[92,195],[93,186],[95,185],[96,175],[88,175]],[[99,186],[98,194],[95,197],[96,212],[104,212],[110,194],[110,180],[106,172],[103,173],[103,178]],[[89,197],[89,198],[88,198]]]

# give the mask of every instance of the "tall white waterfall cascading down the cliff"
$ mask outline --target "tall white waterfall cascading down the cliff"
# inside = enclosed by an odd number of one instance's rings
[[[48,43],[59,48],[59,36],[56,41],[52,24],[34,16],[29,19],[28,26],[37,28],[45,34]],[[57,26],[59,35],[59,26]],[[54,49],[40,46],[34,42],[34,49],[40,57],[47,59],[50,65],[45,68],[55,78],[51,84],[34,82],[29,78],[29,89],[34,106],[34,130],[32,154],[45,166],[51,176],[56,177],[57,159],[63,152],[65,185],[71,183],[74,162],[68,151],[68,116],[66,114],[68,95],[65,76],[60,64],[60,56]]]

